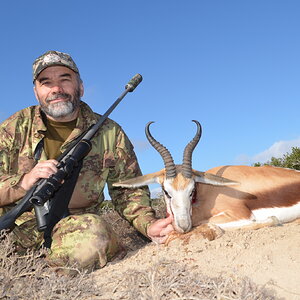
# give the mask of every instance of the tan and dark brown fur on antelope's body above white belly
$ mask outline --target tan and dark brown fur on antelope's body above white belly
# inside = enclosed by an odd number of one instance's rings
[[[270,166],[222,166],[207,173],[224,176],[240,184],[232,187],[197,183],[193,225],[208,220],[226,223],[247,219],[258,208],[288,207],[300,201],[300,172]],[[216,216],[224,212],[223,215]]]

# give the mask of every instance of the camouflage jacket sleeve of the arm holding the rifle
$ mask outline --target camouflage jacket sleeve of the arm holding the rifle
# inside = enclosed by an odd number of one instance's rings
[[[14,139],[5,127],[5,123],[0,125],[0,207],[16,202],[26,194],[19,186],[23,174],[14,167],[18,164]]]

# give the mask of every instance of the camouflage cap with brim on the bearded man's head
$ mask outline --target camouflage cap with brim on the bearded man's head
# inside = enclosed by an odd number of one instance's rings
[[[79,74],[79,70],[69,54],[58,51],[47,51],[33,62],[33,82],[43,70],[50,66],[65,66]]]

